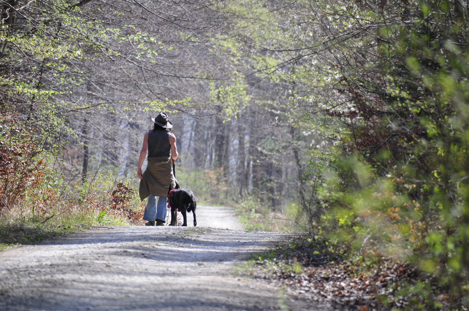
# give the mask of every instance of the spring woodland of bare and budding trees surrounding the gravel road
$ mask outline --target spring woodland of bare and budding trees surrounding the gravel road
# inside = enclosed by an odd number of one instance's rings
[[[374,285],[383,308],[467,310],[468,9],[1,0],[0,242],[142,225],[138,156],[165,111],[198,201],[304,232],[351,273],[412,267]]]

